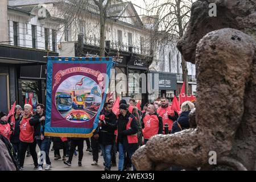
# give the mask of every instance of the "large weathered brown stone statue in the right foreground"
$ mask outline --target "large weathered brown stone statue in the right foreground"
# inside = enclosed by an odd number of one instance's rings
[[[217,16],[209,17],[213,2]],[[193,3],[177,47],[196,63],[196,127],[150,139],[133,155],[137,169],[255,169],[255,40],[256,0]],[[217,165],[209,164],[210,151],[216,152]]]

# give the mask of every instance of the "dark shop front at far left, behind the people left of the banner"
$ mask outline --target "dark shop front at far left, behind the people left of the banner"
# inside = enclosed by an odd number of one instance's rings
[[[30,97],[34,106],[45,103],[47,55],[58,53],[0,44],[1,111],[8,113],[15,101],[23,106]]]

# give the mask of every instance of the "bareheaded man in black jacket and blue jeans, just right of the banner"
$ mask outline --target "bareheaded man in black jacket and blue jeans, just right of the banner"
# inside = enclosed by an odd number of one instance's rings
[[[115,140],[114,131],[117,123],[117,117],[112,112],[112,104],[110,102],[104,104],[104,113],[101,113],[102,115],[104,115],[104,118],[100,118],[101,122],[98,124],[99,142],[105,161],[105,171],[110,171],[111,150]]]

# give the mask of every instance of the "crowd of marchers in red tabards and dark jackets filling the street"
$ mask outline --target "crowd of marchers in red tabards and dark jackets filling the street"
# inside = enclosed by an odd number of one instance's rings
[[[16,105],[14,114],[7,116],[1,112],[0,115],[0,144],[3,142],[7,146],[10,158],[0,159],[1,169],[23,170],[26,151],[32,156],[34,169],[43,170],[43,162],[38,163],[36,145],[40,149],[41,156],[46,159],[45,170],[51,169],[51,159],[49,151],[53,142],[54,160],[61,159],[60,149],[63,149],[62,160],[67,166],[72,166],[73,155],[77,155],[78,166],[82,166],[84,155],[84,140],[86,140],[87,150],[92,152],[92,166],[98,165],[99,151],[104,158],[105,171],[110,171],[117,166],[116,154],[118,152],[118,170],[130,171],[131,167],[136,170],[131,162],[134,152],[146,144],[147,141],[157,134],[174,134],[189,128],[188,114],[195,107],[192,102],[186,101],[181,105],[181,111],[173,110],[167,98],[146,104],[141,108],[136,107],[136,101],[130,99],[119,101],[119,107],[113,108],[114,100],[105,102],[100,113],[98,127],[91,138],[66,138],[47,137],[44,135],[45,107],[43,104],[36,106],[36,113],[32,114],[32,106]],[[114,113],[113,110],[117,110]],[[167,133],[164,133],[167,127]],[[9,147],[9,148],[8,148]],[[28,155],[27,155],[28,156]],[[11,160],[15,167],[11,167],[8,162]],[[173,167],[174,170],[180,168]]]

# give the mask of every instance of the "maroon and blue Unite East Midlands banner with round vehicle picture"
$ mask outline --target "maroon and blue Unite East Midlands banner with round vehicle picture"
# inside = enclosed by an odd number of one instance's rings
[[[112,57],[79,59],[48,57],[46,136],[88,138],[97,128]]]

